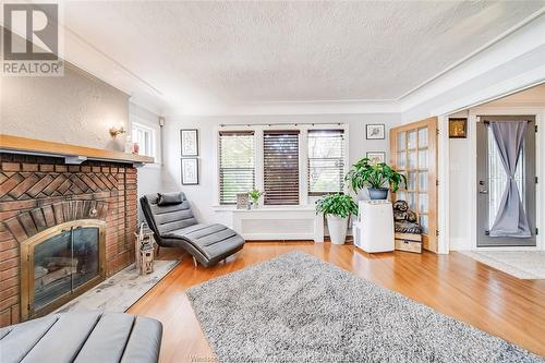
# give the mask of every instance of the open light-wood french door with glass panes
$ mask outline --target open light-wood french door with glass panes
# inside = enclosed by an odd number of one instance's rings
[[[393,194],[407,201],[422,226],[425,250],[437,252],[437,118],[390,130],[391,164],[407,177]]]

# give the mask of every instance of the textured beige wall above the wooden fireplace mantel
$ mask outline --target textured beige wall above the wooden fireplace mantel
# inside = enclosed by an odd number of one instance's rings
[[[0,133],[123,150],[129,96],[66,63],[61,77],[2,77]]]

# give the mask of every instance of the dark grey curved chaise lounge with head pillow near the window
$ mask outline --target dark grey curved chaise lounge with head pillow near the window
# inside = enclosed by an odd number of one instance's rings
[[[240,251],[244,239],[218,223],[199,223],[183,193],[157,193],[141,197],[142,209],[159,246],[182,247],[193,262],[211,266]]]

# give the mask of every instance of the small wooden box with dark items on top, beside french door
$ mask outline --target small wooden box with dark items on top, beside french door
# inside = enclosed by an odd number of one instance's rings
[[[393,203],[396,250],[422,253],[422,227],[416,220],[416,214],[409,209],[405,201]]]

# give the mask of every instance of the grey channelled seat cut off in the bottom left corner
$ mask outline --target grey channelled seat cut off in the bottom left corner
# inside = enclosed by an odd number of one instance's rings
[[[162,325],[123,313],[51,314],[0,329],[0,362],[152,363]]]

